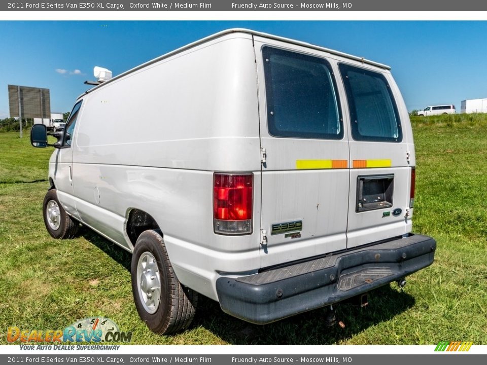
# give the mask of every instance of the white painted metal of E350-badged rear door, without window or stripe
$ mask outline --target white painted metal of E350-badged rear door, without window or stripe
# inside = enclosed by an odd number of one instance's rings
[[[262,229],[267,232],[267,245],[261,247],[261,267],[314,257],[346,248],[346,216],[349,192],[348,169],[298,170],[298,160],[349,161],[349,142],[311,138],[275,137],[267,126],[266,88],[262,49],[273,47],[326,58],[331,55],[279,40],[254,38],[261,120],[261,144],[266,149],[262,168]],[[332,66],[333,67],[333,66]],[[336,74],[336,72],[335,72]],[[340,96],[341,100],[341,96]],[[341,107],[341,106],[340,106]],[[346,136],[346,125],[343,134]],[[302,221],[300,237],[272,235],[277,223]]]

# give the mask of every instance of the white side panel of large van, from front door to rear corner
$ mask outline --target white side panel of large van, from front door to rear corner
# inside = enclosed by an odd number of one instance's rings
[[[229,246],[213,232],[212,208],[213,171],[254,172],[260,201],[254,64],[252,37],[230,34],[93,90],[81,98],[76,126],[82,223],[131,251],[124,225],[132,208],[144,210],[159,223],[180,281],[198,282],[198,291],[213,299],[215,268],[259,268],[258,220],[251,235],[232,237]],[[140,119],[132,110],[142,111]],[[254,210],[259,216],[260,206]]]

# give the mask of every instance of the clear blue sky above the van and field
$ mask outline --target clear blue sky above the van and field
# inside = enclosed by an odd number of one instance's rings
[[[95,65],[115,76],[232,27],[386,63],[409,111],[487,97],[487,21],[0,21],[0,118],[8,84],[49,88],[67,112]]]

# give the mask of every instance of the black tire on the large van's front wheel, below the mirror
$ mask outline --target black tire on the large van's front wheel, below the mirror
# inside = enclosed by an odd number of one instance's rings
[[[56,220],[55,222],[50,219],[48,210],[49,207],[54,207],[55,209],[58,209],[58,220]],[[46,229],[53,238],[73,238],[78,233],[80,223],[66,213],[61,203],[57,199],[56,189],[49,190],[44,197],[44,202],[42,204],[42,215],[44,217],[44,224],[46,225]]]

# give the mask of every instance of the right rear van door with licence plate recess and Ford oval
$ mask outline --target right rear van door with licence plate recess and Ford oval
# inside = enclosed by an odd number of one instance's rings
[[[411,221],[406,214],[410,199],[409,156],[413,153],[408,151],[408,136],[412,143],[412,134],[390,72],[346,63],[338,67],[351,126],[350,248],[410,232]]]

